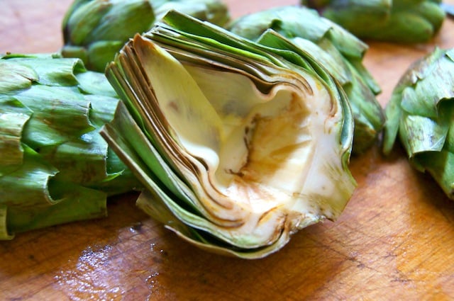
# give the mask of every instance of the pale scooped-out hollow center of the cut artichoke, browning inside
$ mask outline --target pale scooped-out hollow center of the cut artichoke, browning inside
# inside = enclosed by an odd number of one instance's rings
[[[310,203],[323,194],[332,198],[336,183],[328,170],[341,169],[341,161],[333,167],[314,155],[338,157],[337,137],[328,129],[342,118],[323,84],[275,67],[264,92],[255,76],[235,68],[184,62],[153,42],[135,42],[160,122],[170,132],[167,144],[175,143],[189,159],[191,186],[202,203],[209,198],[221,208],[259,216],[272,208],[323,211],[322,201],[320,208]]]

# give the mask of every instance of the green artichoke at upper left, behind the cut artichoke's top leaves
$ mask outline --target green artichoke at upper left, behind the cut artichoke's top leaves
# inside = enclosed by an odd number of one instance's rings
[[[220,0],[75,0],[62,22],[62,55],[104,72],[129,38],[149,30],[170,9],[219,25],[229,20]]]

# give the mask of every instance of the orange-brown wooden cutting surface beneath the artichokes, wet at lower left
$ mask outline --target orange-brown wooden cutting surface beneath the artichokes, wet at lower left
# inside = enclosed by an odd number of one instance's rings
[[[446,1],[451,2],[453,1]],[[234,17],[297,1],[230,0]],[[70,0],[1,0],[0,52],[52,52]],[[400,74],[434,45],[370,43],[365,62],[384,105]],[[207,254],[135,208],[0,242],[0,300],[453,300],[454,202],[409,167],[402,149],[351,160],[358,189],[337,222],[308,227],[257,261]]]

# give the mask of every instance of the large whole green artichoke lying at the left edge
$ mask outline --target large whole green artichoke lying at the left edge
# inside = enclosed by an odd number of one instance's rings
[[[106,215],[140,183],[99,135],[118,96],[79,59],[0,57],[0,239]]]

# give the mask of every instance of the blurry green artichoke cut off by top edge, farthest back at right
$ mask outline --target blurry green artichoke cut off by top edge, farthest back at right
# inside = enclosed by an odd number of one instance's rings
[[[428,42],[441,28],[441,0],[302,0],[362,39]]]

